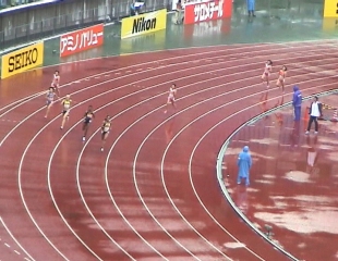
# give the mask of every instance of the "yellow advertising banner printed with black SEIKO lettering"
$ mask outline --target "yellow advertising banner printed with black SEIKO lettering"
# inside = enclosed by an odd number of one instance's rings
[[[1,58],[1,78],[34,69],[44,63],[44,42],[22,48]]]

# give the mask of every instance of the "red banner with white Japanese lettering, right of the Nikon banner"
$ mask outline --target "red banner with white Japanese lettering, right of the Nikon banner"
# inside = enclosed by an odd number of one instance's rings
[[[184,24],[231,17],[231,0],[189,4],[184,9]]]

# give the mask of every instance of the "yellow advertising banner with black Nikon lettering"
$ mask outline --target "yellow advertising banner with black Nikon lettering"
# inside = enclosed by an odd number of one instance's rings
[[[122,20],[121,39],[165,29],[166,26],[166,9],[126,17]]]

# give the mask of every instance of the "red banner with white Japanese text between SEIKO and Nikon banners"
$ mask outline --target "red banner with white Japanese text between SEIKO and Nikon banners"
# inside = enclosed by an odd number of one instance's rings
[[[60,57],[68,57],[104,45],[104,24],[75,30],[60,37]]]

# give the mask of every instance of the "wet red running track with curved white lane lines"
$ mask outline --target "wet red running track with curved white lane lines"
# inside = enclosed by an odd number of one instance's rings
[[[60,65],[61,94],[76,101],[63,130],[58,104],[44,119],[40,92],[56,67],[2,80],[0,259],[287,260],[227,203],[215,162],[224,140],[261,112],[267,59],[288,64],[288,101],[293,83],[304,96],[333,88],[334,75],[321,72],[336,70],[337,55],[323,41]],[[164,114],[172,82],[178,110]],[[278,98],[280,90],[271,90],[269,99]],[[83,144],[88,104],[96,119]],[[107,114],[112,132],[100,152],[98,128]]]

